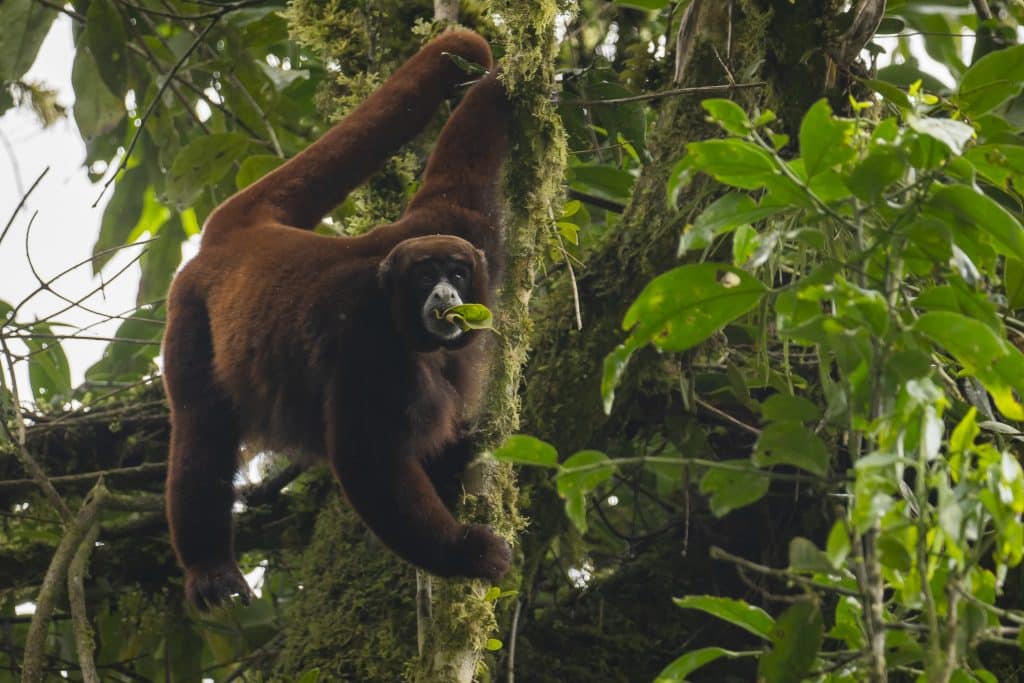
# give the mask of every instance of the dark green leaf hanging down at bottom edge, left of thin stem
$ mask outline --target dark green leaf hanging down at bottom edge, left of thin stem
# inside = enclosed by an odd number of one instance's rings
[[[817,659],[824,622],[817,603],[798,602],[775,622],[772,649],[758,663],[758,679],[766,683],[799,683]]]

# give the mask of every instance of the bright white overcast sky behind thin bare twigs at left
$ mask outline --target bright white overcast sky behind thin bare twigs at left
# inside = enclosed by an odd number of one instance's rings
[[[55,88],[58,101],[71,111],[74,92],[71,87],[71,68],[74,57],[71,19],[60,14],[46,37],[36,63],[25,76]],[[26,233],[32,222],[29,252],[39,274],[51,278],[65,268],[89,257],[96,240],[99,220],[109,195],[96,208],[92,203],[99,196],[100,186],[93,185],[82,162],[85,145],[78,134],[74,118],[57,122],[47,129],[40,128],[38,119],[28,110],[8,111],[0,118],[0,228],[6,224],[18,201],[22,189],[27,189],[47,167],[49,172],[40,182],[24,209],[15,218],[7,237],[0,243],[0,299],[16,305],[36,287],[26,259]],[[38,213],[37,213],[38,212]],[[134,251],[134,250],[133,250]],[[106,265],[105,273],[116,272],[130,256],[121,254]],[[93,309],[121,313],[134,305],[138,287],[138,267],[124,275],[87,302]],[[85,265],[61,278],[54,289],[73,299],[100,284],[92,278],[92,270]],[[51,294],[37,295],[18,316],[22,322],[43,317],[63,307]],[[96,322],[96,315],[81,310],[68,311],[59,321],[74,325]],[[89,335],[113,335],[117,324],[108,324],[90,330]],[[104,343],[99,341],[67,341],[72,366],[72,382],[82,381],[85,370],[97,360]],[[19,373],[24,377],[25,374]]]

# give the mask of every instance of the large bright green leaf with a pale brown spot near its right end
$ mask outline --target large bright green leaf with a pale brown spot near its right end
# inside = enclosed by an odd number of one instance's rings
[[[683,265],[652,280],[626,311],[623,329],[640,346],[667,351],[696,346],[754,308],[765,286],[739,268],[715,263]]]

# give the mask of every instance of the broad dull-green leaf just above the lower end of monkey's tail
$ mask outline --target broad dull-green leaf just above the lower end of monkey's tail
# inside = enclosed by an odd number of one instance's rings
[[[187,208],[200,193],[224,177],[248,146],[246,136],[239,133],[214,133],[193,140],[171,164],[164,185],[166,201]]]

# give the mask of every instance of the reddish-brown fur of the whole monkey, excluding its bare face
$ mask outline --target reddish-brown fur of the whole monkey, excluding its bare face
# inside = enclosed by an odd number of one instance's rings
[[[497,581],[508,568],[508,545],[458,522],[437,493],[472,455],[461,431],[480,391],[485,340],[426,336],[404,280],[419,259],[458,259],[472,267],[469,300],[490,302],[503,262],[496,187],[508,126],[495,75],[452,115],[397,222],[356,238],[308,229],[468,80],[445,52],[490,68],[473,33],[428,44],[319,140],[220,205],[171,287],[167,515],[200,607],[248,596],[231,544],[242,440],[326,455],[370,528],[428,571]]]

